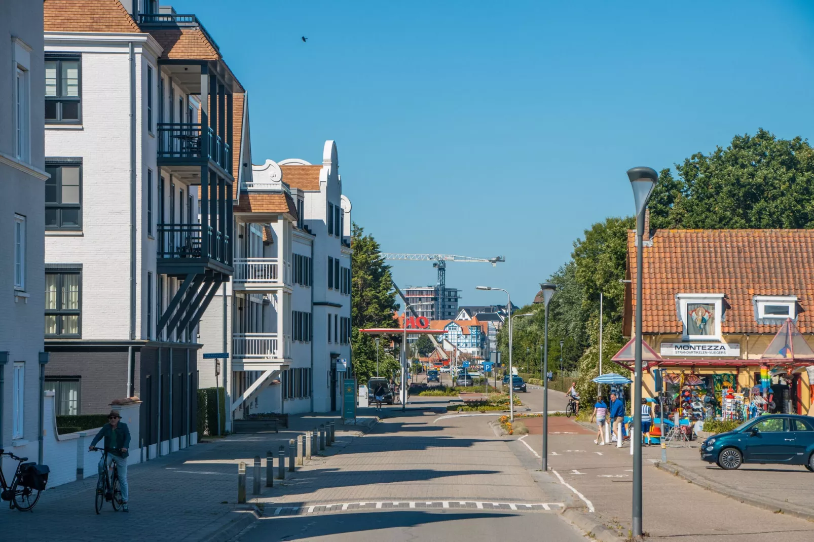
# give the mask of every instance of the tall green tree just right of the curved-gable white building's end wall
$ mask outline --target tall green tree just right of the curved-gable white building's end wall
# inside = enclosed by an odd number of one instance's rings
[[[396,291],[393,288],[390,266],[382,257],[381,247],[372,235],[356,223],[352,227],[352,334],[353,367],[360,383],[376,374],[376,343],[372,337],[359,332],[369,327],[396,327],[393,311]],[[379,374],[389,375],[399,365],[385,341],[379,343]]]

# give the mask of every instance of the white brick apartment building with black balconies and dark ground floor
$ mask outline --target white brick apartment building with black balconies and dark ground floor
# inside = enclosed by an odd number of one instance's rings
[[[196,441],[197,327],[232,274],[245,90],[195,15],[44,10],[46,385],[57,414],[138,397],[132,448],[155,457]]]

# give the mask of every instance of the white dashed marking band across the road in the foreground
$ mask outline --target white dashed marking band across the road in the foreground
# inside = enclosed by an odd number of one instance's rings
[[[344,502],[327,505],[309,506],[278,506],[274,509],[274,516],[290,516],[300,514],[321,514],[323,512],[339,512],[368,509],[478,509],[478,510],[516,510],[524,511],[552,511],[565,509],[561,502],[487,502],[481,500],[377,500],[374,502]]]

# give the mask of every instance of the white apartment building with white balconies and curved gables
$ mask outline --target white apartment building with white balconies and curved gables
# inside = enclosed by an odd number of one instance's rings
[[[337,410],[336,360],[351,356],[352,251],[335,143],[322,164],[266,160],[238,181],[234,282],[200,328],[204,351],[230,352],[218,382],[227,430],[252,412]],[[201,387],[214,385],[214,362],[198,364]]]

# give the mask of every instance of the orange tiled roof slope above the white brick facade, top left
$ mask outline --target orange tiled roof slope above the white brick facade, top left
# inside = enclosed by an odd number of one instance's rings
[[[45,0],[42,15],[46,32],[142,32],[119,0]]]

